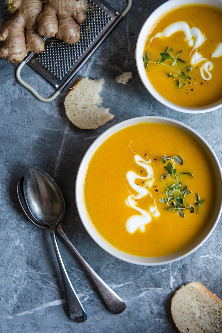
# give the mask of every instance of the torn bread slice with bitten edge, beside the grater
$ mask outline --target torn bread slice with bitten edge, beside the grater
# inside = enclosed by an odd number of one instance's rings
[[[67,117],[75,126],[93,130],[113,119],[109,109],[99,107],[103,84],[103,79],[90,80],[86,77],[78,79],[72,86],[64,105]]]

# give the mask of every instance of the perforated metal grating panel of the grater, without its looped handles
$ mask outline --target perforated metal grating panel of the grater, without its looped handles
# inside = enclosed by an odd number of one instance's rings
[[[80,25],[81,38],[76,44],[65,44],[55,38],[46,39],[45,51],[34,55],[28,64],[60,88],[67,76],[73,72],[92,51],[98,39],[120,15],[102,1],[89,0],[87,19]]]

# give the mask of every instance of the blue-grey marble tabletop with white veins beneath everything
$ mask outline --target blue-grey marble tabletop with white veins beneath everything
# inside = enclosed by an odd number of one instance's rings
[[[160,115],[182,121],[209,142],[221,162],[221,110],[200,115],[172,111],[149,95],[137,74],[137,35],[145,19],[162,2],[134,0],[126,18],[79,72],[78,76],[103,77],[106,81],[103,105],[110,107],[115,118],[97,130],[80,130],[66,118],[64,98],[68,88],[52,103],[39,102],[16,81],[17,65],[0,59],[1,332],[177,332],[170,315],[170,299],[181,284],[200,281],[222,296],[221,220],[193,254],[172,264],[144,267],[103,251],[87,234],[76,211],[74,185],[81,158],[100,133],[122,120]],[[109,3],[117,9],[124,5],[123,0]],[[9,15],[2,6],[0,14],[3,23]],[[114,81],[122,71],[133,73],[126,86]],[[24,75],[45,96],[52,93],[52,87],[29,68]],[[67,317],[49,232],[27,220],[17,199],[17,182],[30,166],[44,169],[58,183],[66,202],[64,229],[92,267],[126,301],[122,314],[112,315],[105,308],[89,276],[58,237],[70,279],[88,314],[82,324]]]

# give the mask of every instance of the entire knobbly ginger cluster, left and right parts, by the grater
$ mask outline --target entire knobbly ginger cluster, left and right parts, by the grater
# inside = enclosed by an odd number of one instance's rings
[[[7,0],[11,19],[0,29],[0,57],[21,62],[29,51],[44,51],[41,36],[56,37],[67,44],[77,43],[86,20],[86,0]],[[39,26],[38,26],[39,23]]]

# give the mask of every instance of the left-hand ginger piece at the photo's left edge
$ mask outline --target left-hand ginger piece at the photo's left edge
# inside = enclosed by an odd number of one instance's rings
[[[42,0],[8,0],[11,19],[0,30],[0,57],[9,62],[21,62],[29,51],[44,51],[44,41],[38,34],[37,16],[43,10]]]

